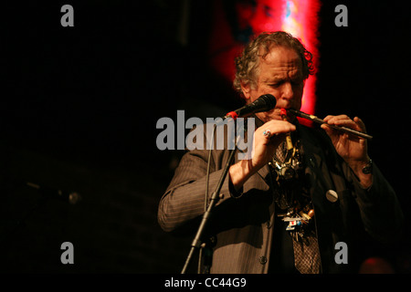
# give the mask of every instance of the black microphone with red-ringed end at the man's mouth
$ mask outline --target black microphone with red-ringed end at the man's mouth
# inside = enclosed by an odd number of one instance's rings
[[[224,120],[228,118],[237,120],[237,118],[247,118],[248,116],[256,112],[269,111],[274,109],[276,103],[277,99],[274,98],[273,95],[264,94],[260,96],[258,99],[254,100],[253,102],[248,103],[248,105],[245,105],[244,107],[238,110],[228,112],[227,115],[224,116]]]

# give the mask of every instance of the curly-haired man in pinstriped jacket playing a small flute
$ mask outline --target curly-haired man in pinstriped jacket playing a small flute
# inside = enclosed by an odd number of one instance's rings
[[[326,124],[304,127],[281,110],[300,110],[311,57],[285,32],[261,34],[237,57],[234,86],[246,102],[271,94],[277,104],[253,117],[253,155],[236,159],[223,183],[206,229],[213,238],[211,273],[356,272],[368,245],[398,239],[403,214],[367,141]],[[359,118],[324,120],[365,131]],[[227,150],[212,151],[211,191],[227,159]],[[195,235],[205,211],[207,162],[206,150],[184,154],[159,205],[163,230]]]

